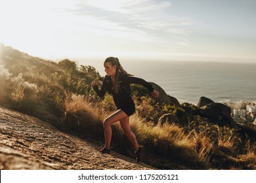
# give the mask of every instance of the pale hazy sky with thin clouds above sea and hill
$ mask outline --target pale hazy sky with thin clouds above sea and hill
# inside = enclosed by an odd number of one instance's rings
[[[256,63],[256,0],[0,0],[0,42],[45,59]]]

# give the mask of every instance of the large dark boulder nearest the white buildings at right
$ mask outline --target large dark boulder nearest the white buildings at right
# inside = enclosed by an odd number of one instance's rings
[[[237,127],[234,120],[231,118],[230,107],[222,103],[210,103],[201,107],[200,116],[207,118],[210,122],[218,125],[228,125],[230,127]]]

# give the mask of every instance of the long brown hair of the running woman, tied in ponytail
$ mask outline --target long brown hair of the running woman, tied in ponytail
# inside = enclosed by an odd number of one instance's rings
[[[119,91],[119,75],[120,74],[123,74],[123,75],[126,75],[126,76],[133,76],[133,75],[130,75],[128,74],[125,69],[123,69],[123,67],[121,66],[121,63],[119,62],[119,59],[118,58],[114,58],[114,57],[109,57],[109,58],[106,58],[104,63],[106,62],[110,62],[112,66],[116,65],[116,75],[115,75],[115,82],[114,82],[114,93],[118,93]]]

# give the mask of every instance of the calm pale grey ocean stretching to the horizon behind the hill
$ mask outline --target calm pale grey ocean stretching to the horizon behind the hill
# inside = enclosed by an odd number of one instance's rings
[[[256,64],[185,61],[120,61],[127,73],[158,84],[180,103],[197,104],[200,97],[215,102],[256,101]],[[103,61],[81,61],[101,76]]]

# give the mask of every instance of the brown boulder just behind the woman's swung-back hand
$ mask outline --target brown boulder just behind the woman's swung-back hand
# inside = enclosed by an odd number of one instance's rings
[[[149,82],[152,84],[153,88],[159,92],[159,97],[157,99],[158,102],[165,103],[167,105],[175,105],[177,107],[181,107],[181,104],[175,97],[171,97],[170,95],[167,95],[163,88],[158,86],[158,84],[155,84],[154,82]]]

